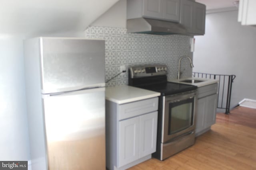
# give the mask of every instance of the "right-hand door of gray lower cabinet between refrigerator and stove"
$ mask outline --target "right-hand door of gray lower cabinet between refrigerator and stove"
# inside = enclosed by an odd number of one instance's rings
[[[157,111],[140,116],[140,158],[156,152],[157,116]]]

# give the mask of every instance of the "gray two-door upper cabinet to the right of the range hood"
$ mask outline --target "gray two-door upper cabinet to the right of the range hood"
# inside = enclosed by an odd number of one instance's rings
[[[180,1],[180,23],[188,33],[204,35],[205,33],[206,6],[190,0]]]

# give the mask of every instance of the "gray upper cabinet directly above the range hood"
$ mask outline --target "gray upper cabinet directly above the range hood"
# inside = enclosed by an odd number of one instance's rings
[[[180,0],[128,0],[127,19],[152,18],[180,21]]]

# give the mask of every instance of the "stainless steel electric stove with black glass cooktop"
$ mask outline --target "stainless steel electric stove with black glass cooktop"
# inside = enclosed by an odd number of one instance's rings
[[[195,141],[196,86],[167,81],[166,65],[129,68],[129,85],[160,92],[155,158],[164,160]]]

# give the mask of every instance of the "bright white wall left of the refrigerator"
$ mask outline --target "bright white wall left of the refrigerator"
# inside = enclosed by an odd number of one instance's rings
[[[22,38],[0,35],[0,160],[29,158]]]

